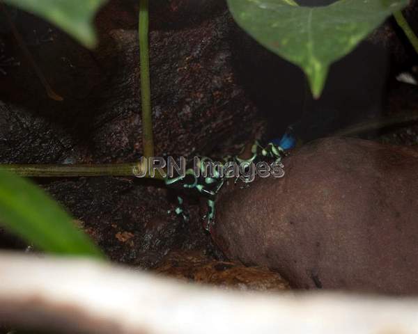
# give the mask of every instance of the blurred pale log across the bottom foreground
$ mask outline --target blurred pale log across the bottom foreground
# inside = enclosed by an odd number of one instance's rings
[[[68,333],[418,333],[418,300],[245,294],[89,260],[0,255],[0,321]]]

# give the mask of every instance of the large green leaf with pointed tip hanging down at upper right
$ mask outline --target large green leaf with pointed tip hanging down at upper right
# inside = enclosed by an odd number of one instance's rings
[[[340,0],[300,7],[293,0],[228,0],[235,21],[264,47],[304,70],[319,97],[332,63],[352,51],[408,0]]]

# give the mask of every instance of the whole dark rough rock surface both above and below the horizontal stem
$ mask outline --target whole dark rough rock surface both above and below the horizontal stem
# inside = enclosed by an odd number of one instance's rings
[[[0,81],[1,163],[118,163],[141,157],[137,13],[137,1],[109,1],[96,19],[100,45],[94,51],[18,13],[17,29],[64,101],[47,97],[10,31],[3,31],[5,52],[20,66],[8,68]],[[246,141],[256,108],[235,77],[233,19],[224,1],[151,1],[150,17],[156,154],[209,154]],[[48,38],[40,42],[41,35]],[[149,267],[172,248],[212,251],[196,210],[189,225],[167,214],[173,205],[162,184],[111,177],[36,182],[113,260]],[[0,246],[19,244],[3,239]]]

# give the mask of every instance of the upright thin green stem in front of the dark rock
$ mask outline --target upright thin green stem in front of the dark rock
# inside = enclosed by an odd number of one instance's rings
[[[139,1],[139,56],[141,67],[142,141],[144,157],[154,156],[153,118],[150,93],[150,56],[148,47],[149,0]]]

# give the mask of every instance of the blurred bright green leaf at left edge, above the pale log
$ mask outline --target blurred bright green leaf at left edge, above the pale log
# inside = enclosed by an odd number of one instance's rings
[[[28,180],[1,169],[0,224],[47,252],[102,257],[57,202]]]

